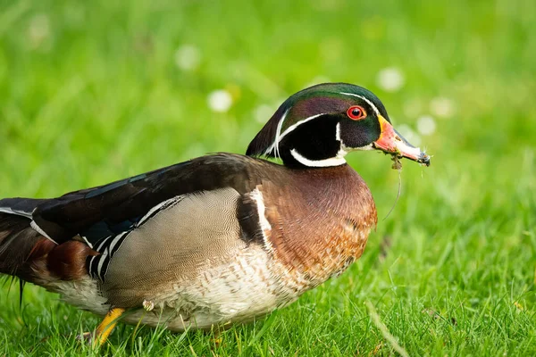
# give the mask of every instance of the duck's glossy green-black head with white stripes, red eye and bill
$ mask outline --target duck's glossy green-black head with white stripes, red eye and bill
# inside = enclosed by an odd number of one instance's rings
[[[247,155],[280,157],[288,166],[346,163],[356,150],[381,150],[430,165],[430,156],[392,127],[380,99],[364,87],[324,83],[291,95],[247,147]]]

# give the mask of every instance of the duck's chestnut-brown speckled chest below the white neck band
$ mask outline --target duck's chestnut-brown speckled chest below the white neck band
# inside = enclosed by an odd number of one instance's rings
[[[257,187],[264,246],[297,290],[322,284],[361,256],[376,208],[348,165],[298,170]],[[262,202],[261,202],[262,201]]]

